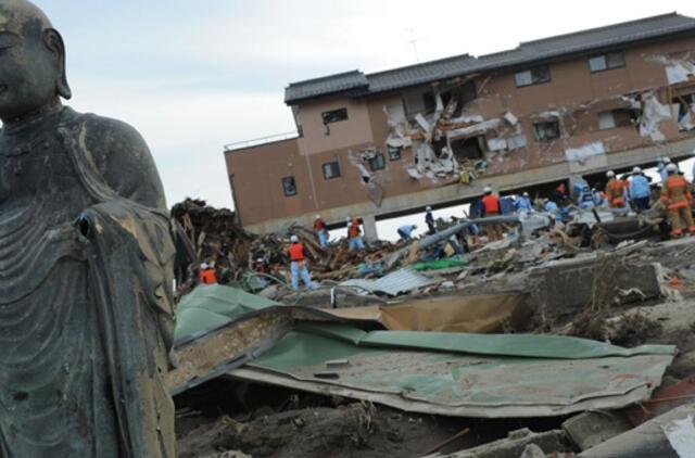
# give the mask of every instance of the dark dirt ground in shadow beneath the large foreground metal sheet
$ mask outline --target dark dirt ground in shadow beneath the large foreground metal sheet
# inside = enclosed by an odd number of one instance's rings
[[[457,421],[412,416],[370,404],[260,411],[247,422],[229,416],[178,422],[179,457],[220,456],[240,450],[253,457],[421,456],[463,430]],[[467,446],[462,440],[455,448]]]

